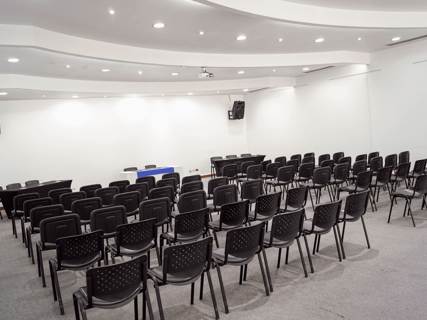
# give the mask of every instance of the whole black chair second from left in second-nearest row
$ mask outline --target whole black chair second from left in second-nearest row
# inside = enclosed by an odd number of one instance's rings
[[[116,227],[116,243],[105,247],[105,263],[108,265],[108,252],[111,261],[114,257],[136,257],[147,254],[148,267],[150,266],[150,250],[155,249],[158,264],[161,265],[159,248],[157,245],[157,219],[152,218],[135,223],[122,224]]]

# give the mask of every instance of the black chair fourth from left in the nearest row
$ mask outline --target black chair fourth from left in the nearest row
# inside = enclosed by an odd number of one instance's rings
[[[273,218],[271,231],[264,234],[263,244],[265,248],[279,248],[279,256],[277,259],[277,268],[280,268],[280,257],[282,248],[286,248],[285,265],[288,264],[289,247],[294,243],[295,239],[298,244],[299,255],[301,257],[302,267],[304,268],[305,277],[308,277],[307,268],[305,268],[304,256],[301,250],[299,237],[304,237],[306,244],[308,260],[310,262],[311,273],[314,273],[313,264],[311,263],[310,250],[308,249],[307,238],[303,232],[302,225],[304,222],[305,212],[300,209],[294,212],[289,212],[285,215],[276,215]],[[266,260],[266,257],[264,257]]]

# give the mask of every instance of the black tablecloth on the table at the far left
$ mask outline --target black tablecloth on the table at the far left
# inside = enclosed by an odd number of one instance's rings
[[[47,181],[43,183],[43,186],[35,184],[33,186],[27,186],[26,189],[6,189],[0,190],[0,201],[3,204],[4,210],[9,218],[12,218],[13,210],[13,198],[15,195],[23,195],[25,193],[37,192],[40,195],[40,198],[47,197],[47,194],[50,190],[62,189],[62,188],[71,188],[71,182],[73,180],[61,180],[56,181]]]

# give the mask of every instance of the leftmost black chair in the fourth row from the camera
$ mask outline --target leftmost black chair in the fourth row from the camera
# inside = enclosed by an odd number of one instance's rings
[[[26,242],[28,244],[28,256],[31,257],[32,264],[34,265],[34,253],[32,250],[31,235],[40,233],[40,222],[43,219],[58,217],[64,215],[64,207],[61,204],[53,204],[45,207],[35,207],[29,212],[30,225],[26,227]]]

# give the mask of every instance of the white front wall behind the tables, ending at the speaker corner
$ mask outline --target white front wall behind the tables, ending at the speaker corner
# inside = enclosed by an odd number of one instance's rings
[[[210,157],[248,151],[243,96],[0,102],[0,185],[73,179],[107,186],[129,166],[182,165],[210,174]]]

